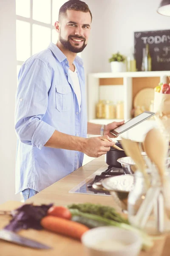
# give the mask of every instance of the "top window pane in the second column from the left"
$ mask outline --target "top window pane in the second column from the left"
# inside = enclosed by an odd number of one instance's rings
[[[51,23],[51,0],[33,0],[33,20]]]

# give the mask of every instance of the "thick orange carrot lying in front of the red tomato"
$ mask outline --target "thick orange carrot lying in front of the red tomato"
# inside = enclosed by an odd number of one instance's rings
[[[45,216],[41,219],[41,225],[47,230],[65,235],[71,236],[76,239],[81,239],[81,236],[89,230],[83,224],[69,221],[64,218],[54,217],[54,216]]]

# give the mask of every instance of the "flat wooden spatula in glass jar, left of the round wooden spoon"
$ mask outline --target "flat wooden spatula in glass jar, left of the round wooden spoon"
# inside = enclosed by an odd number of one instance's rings
[[[149,187],[150,180],[145,170],[144,159],[141,155],[141,151],[139,150],[138,143],[132,140],[122,138],[122,145],[123,145],[123,148],[125,149],[126,155],[131,157],[135,161],[136,166],[143,173],[146,186]]]

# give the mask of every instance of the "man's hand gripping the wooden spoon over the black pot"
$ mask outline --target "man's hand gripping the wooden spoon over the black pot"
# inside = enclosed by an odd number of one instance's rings
[[[104,141],[104,139],[109,141]],[[85,139],[82,152],[89,157],[100,157],[106,154],[114,144],[108,136],[92,137]]]

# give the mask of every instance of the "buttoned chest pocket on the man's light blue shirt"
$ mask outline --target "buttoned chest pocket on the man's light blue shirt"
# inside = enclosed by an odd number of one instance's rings
[[[59,112],[70,110],[72,102],[72,91],[69,86],[56,86],[56,108]]]

